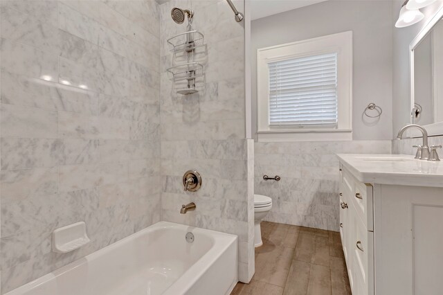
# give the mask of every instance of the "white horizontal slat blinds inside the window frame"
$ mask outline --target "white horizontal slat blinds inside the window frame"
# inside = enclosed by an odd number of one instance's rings
[[[269,124],[336,127],[337,54],[269,62]]]

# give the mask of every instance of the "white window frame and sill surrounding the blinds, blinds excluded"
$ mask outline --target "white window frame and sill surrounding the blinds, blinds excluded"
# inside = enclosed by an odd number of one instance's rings
[[[337,53],[337,127],[271,126],[269,62]],[[257,134],[259,141],[352,140],[352,31],[257,49]]]

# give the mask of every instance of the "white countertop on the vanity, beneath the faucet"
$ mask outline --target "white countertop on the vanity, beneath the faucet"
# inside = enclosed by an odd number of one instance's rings
[[[443,187],[443,161],[414,159],[406,154],[337,154],[356,179],[368,184]]]

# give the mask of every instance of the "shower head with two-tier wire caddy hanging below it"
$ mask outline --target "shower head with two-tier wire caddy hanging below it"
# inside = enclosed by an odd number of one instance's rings
[[[174,89],[177,89],[177,93],[183,95],[197,93],[199,91],[196,89],[196,79],[203,77],[204,66],[199,62],[195,62],[195,49],[204,46],[204,35],[192,28],[192,18],[194,17],[192,10],[173,8],[171,16],[177,24],[183,24],[186,16],[188,17],[186,32],[168,39],[170,51],[174,53],[172,58],[176,58],[177,54],[183,53],[186,55],[187,62],[172,66],[166,71],[174,82]]]

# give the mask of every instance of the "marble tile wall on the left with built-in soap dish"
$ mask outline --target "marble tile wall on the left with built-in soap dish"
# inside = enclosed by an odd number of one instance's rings
[[[161,220],[153,0],[1,0],[2,294]],[[91,243],[51,251],[85,221]]]

